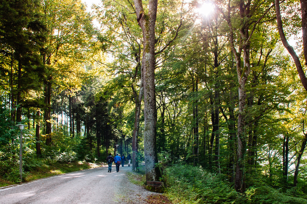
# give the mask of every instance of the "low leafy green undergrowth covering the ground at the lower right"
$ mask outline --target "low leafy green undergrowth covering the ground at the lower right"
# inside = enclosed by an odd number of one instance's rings
[[[304,195],[295,189],[282,193],[263,185],[240,194],[226,178],[202,167],[180,164],[166,168],[163,175],[166,194],[178,204],[307,204]]]

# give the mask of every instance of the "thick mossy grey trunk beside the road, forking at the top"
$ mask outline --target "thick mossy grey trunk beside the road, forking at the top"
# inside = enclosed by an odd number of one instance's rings
[[[155,23],[157,18],[157,0],[149,0],[148,14],[145,14],[141,0],[134,0],[138,25],[143,32],[143,86],[144,86],[144,155],[146,180],[157,181],[161,171],[156,147],[156,93],[155,93]]]

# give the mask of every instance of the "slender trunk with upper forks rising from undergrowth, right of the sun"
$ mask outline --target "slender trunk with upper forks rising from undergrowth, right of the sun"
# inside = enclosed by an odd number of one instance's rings
[[[237,76],[239,82],[239,112],[238,112],[238,134],[237,134],[237,162],[236,162],[236,171],[235,171],[235,189],[241,193],[245,191],[245,156],[246,156],[246,123],[245,123],[245,100],[246,100],[246,82],[247,77],[250,73],[250,44],[251,36],[255,30],[256,25],[264,17],[264,15],[270,10],[266,10],[265,14],[258,19],[257,22],[251,22],[250,19],[253,16],[250,10],[251,2],[248,1],[245,5],[244,0],[239,1],[239,15],[240,15],[240,28],[239,28],[239,52],[237,52],[237,45],[234,39],[235,28],[231,22],[231,6],[230,2],[228,3],[228,15],[227,23],[229,25],[229,41],[231,50],[235,56]],[[250,27],[252,27],[250,31]],[[243,67],[241,65],[241,56],[243,54]]]

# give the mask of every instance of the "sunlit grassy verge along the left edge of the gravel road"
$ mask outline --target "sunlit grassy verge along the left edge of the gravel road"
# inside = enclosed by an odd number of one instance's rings
[[[85,170],[90,168],[101,167],[103,163],[87,163],[87,162],[72,162],[72,163],[56,163],[46,162],[39,167],[35,167],[32,171],[24,172],[22,175],[23,182],[29,182],[36,179],[42,179],[49,176],[69,173],[73,171]],[[19,175],[19,174],[18,174]],[[0,178],[0,187],[10,186],[17,183]]]

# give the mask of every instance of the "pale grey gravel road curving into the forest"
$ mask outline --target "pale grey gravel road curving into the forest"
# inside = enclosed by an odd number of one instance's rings
[[[145,204],[149,192],[130,183],[119,167],[108,173],[108,167],[76,171],[0,189],[1,204]]]

